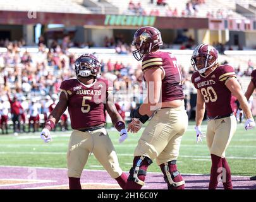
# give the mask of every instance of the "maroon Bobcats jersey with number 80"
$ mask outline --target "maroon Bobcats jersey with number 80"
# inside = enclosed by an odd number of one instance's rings
[[[236,76],[235,71],[229,65],[221,65],[207,76],[198,73],[198,71],[193,73],[192,83],[204,96],[208,117],[214,118],[233,112],[231,92],[225,85],[228,78],[233,76]]]

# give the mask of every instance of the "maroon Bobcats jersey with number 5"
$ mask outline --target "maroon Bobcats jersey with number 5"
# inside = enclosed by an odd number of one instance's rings
[[[107,80],[97,79],[93,85],[87,86],[77,79],[71,79],[63,81],[60,88],[68,97],[72,129],[88,128],[106,122],[106,98],[113,90]]]

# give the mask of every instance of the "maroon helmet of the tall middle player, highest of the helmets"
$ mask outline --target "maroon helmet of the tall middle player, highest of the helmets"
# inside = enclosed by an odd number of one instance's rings
[[[141,27],[133,37],[131,45],[136,47],[133,50],[133,56],[137,61],[140,61],[145,54],[149,54],[154,49],[158,49],[162,45],[161,33],[154,27]]]

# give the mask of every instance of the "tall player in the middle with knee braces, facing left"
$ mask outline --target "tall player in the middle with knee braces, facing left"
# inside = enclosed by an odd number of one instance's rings
[[[126,189],[141,189],[147,169],[156,160],[164,174],[168,189],[184,189],[185,181],[176,166],[180,143],[188,126],[183,94],[183,77],[176,57],[162,52],[161,33],[154,27],[142,27],[135,32],[133,56],[142,60],[143,77],[147,82],[147,98],[131,111],[133,121],[128,131],[137,133],[150,116],[149,124],[134,151],[133,167]]]

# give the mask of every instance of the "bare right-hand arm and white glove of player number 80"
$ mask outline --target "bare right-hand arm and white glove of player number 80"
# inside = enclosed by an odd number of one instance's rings
[[[235,77],[232,77],[228,81],[226,81],[225,84],[230,90],[230,92],[238,99],[240,107],[241,109],[243,109],[243,113],[247,117],[247,121],[245,122],[245,129],[247,130],[254,128],[255,122],[252,117],[252,112],[248,105],[247,98],[245,97],[245,95],[243,95],[240,83],[238,83]]]

